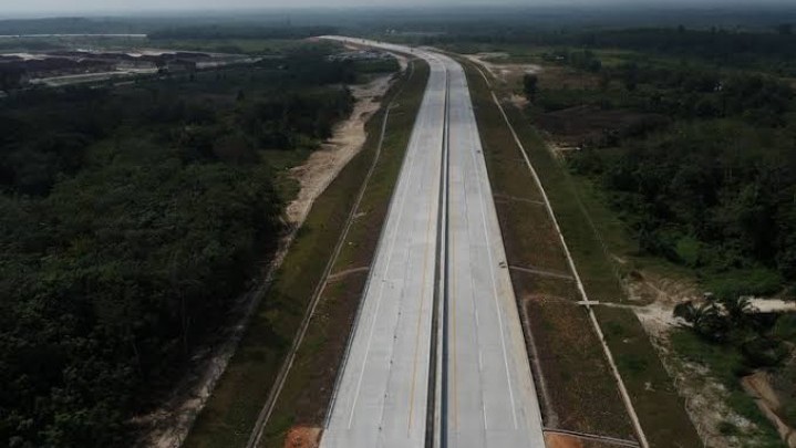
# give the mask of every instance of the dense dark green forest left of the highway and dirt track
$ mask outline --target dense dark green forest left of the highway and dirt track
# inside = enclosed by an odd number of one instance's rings
[[[0,103],[3,445],[127,445],[283,235],[262,149],[350,113],[328,52]]]

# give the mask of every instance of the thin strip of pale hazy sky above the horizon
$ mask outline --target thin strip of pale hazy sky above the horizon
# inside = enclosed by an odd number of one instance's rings
[[[683,6],[728,6],[743,4],[742,0],[675,0]],[[757,0],[759,6],[789,4],[794,0]],[[347,7],[454,7],[496,4],[523,7],[598,6],[623,3],[633,6],[664,7],[672,0],[0,0],[0,15],[13,13],[34,14],[84,14],[84,13],[131,13],[159,10],[234,10],[234,9],[285,9],[321,7],[324,9]],[[745,2],[748,4],[748,2]]]

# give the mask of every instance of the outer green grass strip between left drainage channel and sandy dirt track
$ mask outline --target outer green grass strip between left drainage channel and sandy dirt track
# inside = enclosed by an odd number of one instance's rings
[[[410,82],[404,80],[396,83],[386,96],[395,94],[402,83],[406,83],[405,94],[409,94],[410,86],[414,86],[417,80],[423,77],[422,71],[421,69],[415,73]],[[422,81],[421,90],[424,86],[425,80]],[[411,115],[410,105],[411,102],[406,102],[400,106],[405,108],[400,111],[400,116]],[[383,113],[382,107],[369,122],[369,140],[363,150],[351,159],[314,201],[259,309],[252,315],[240,346],[197,418],[185,447],[246,445],[313,291],[323,280],[322,274],[329,257],[345,226],[363,177],[372,164],[380,131],[376,126],[381,124]],[[411,117],[414,119],[414,115]],[[329,290],[355,290],[356,286],[350,285],[349,282],[356,282],[360,277],[363,275],[347,278],[345,282],[335,283]],[[320,310],[325,310],[324,306],[325,304],[321,304]],[[332,314],[333,312],[327,313]],[[308,334],[307,338],[311,340],[310,344],[324,345],[322,341],[312,340],[312,334]],[[301,360],[296,363],[301,365]]]

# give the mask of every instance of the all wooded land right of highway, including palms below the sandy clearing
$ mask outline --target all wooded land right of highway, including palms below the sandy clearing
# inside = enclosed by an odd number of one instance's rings
[[[676,303],[664,358],[699,366],[678,379],[721,384],[715,409],[742,416],[714,430],[738,446],[779,446],[742,378],[765,375],[773,411],[796,425],[796,315],[762,300],[786,309],[796,291],[796,84],[782,48],[756,50],[792,37],[761,34],[725,64],[720,52],[702,55],[711,31],[599,34],[589,45],[510,48],[508,58],[542,65],[523,76],[526,115],[573,175],[619,275]]]

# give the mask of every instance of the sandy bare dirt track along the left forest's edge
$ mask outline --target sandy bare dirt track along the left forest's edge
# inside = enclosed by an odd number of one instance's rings
[[[400,55],[396,58],[402,67],[406,66],[405,58]],[[383,75],[369,84],[351,86],[355,98],[351,116],[334,127],[332,138],[324,143],[321,149],[313,153],[303,165],[292,169],[291,175],[299,181],[300,191],[288,205],[286,216],[293,229],[301,226],[313,201],[345,164],[362,149],[365,142],[364,124],[381,106],[381,97],[390,87],[391,80],[392,75]],[[281,242],[280,250],[267,269],[267,278],[281,264],[292,236],[293,233],[290,232]],[[250,310],[244,310],[250,306],[250,294],[244,294],[236,304],[237,311],[232,312],[232,315],[248,316]],[[175,387],[164,406],[133,418],[134,425],[146,428],[135,442],[136,446],[172,448],[182,445],[235,353],[237,342],[245,329],[245,321],[246,317],[228,329],[228,335],[220,337],[217,345],[197,352],[192,358],[193,367],[189,373]]]

